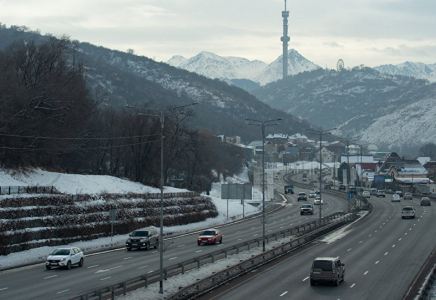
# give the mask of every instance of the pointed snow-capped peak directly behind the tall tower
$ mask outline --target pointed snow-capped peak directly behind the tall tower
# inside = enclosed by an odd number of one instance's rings
[[[319,69],[320,66],[304,58],[300,53],[291,49],[288,51],[288,75],[295,75],[304,71]],[[283,55],[270,63],[254,78],[261,85],[283,79]]]

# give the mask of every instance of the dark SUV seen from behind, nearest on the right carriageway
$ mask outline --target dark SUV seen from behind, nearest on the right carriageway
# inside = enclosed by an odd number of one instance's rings
[[[317,257],[310,270],[310,285],[329,282],[338,286],[345,278],[345,265],[338,257]]]

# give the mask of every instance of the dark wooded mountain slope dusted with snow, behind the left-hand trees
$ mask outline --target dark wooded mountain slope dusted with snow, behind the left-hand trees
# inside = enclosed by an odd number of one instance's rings
[[[21,27],[6,28],[2,25],[0,51],[17,40],[38,42],[47,38]],[[194,128],[226,136],[241,136],[246,143],[258,140],[260,129],[249,126],[245,117],[257,120],[281,118],[282,121],[274,128],[276,132],[294,133],[313,127],[221,80],[90,43],[73,41],[73,46],[75,59],[85,67],[88,86],[92,94],[101,99],[102,107],[124,109],[126,104],[148,104],[153,108],[167,108],[197,101],[199,104],[192,108],[195,116],[191,125]],[[178,60],[183,61],[182,58]],[[239,59],[232,61],[234,65],[237,65],[235,61],[243,64]]]

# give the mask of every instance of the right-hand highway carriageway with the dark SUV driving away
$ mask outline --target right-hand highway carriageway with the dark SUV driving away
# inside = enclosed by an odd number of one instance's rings
[[[402,299],[420,267],[436,246],[434,206],[419,200],[370,199],[374,210],[347,234],[314,242],[275,266],[259,269],[201,299]],[[413,205],[415,219],[401,219],[401,208]],[[335,239],[336,238],[338,239]],[[339,287],[310,286],[314,258],[340,256],[345,280]]]

